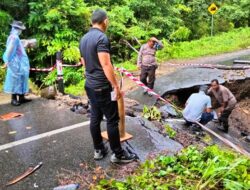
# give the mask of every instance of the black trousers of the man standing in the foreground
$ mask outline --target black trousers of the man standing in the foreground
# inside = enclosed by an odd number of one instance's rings
[[[111,150],[119,155],[122,153],[119,134],[119,113],[117,101],[111,101],[112,88],[91,89],[85,86],[91,105],[90,132],[95,149],[103,149],[104,144],[101,136],[101,121],[103,115],[107,119],[107,132]]]

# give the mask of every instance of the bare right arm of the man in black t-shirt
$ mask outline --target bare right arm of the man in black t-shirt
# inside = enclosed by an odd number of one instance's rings
[[[121,91],[115,78],[115,72],[113,65],[111,64],[110,54],[107,52],[98,52],[98,58],[105,73],[105,76],[114,88],[116,99],[118,100],[121,97]]]

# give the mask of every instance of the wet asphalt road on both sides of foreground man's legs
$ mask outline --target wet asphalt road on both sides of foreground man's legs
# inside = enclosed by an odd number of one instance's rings
[[[55,101],[35,99],[21,107],[0,105],[0,114],[20,112],[24,116],[0,121],[0,189],[48,190],[57,186],[61,169],[77,172],[81,163],[110,166],[110,155],[102,161],[93,161],[93,146],[88,118],[75,114],[69,108],[58,107]],[[141,161],[149,153],[169,150],[174,153],[182,146],[154,129],[154,125],[139,118],[126,118],[127,132],[134,137],[124,148],[136,152]],[[102,130],[105,130],[105,122]],[[14,131],[14,133],[13,133]],[[43,162],[33,175],[11,187],[4,187],[10,179],[23,173],[29,166]]]

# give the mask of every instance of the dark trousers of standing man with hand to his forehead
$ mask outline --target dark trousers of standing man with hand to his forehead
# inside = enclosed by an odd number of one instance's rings
[[[154,88],[156,68],[157,66],[141,66],[140,80],[150,89]]]

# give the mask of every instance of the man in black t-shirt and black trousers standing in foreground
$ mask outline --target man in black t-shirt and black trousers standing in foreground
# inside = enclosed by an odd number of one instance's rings
[[[117,100],[121,97],[121,91],[110,60],[110,43],[104,34],[108,26],[106,12],[100,9],[94,11],[91,21],[92,28],[80,41],[80,52],[86,67],[85,90],[91,104],[90,132],[95,148],[94,159],[100,160],[108,152],[100,129],[105,115],[110,148],[113,151],[110,160],[115,163],[129,163],[136,156],[123,150],[120,144]],[[112,91],[115,101],[111,100]]]

